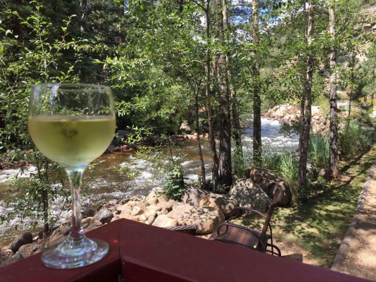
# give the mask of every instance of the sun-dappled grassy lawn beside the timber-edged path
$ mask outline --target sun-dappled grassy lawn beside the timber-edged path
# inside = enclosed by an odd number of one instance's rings
[[[273,238],[282,255],[308,256],[303,262],[330,267],[355,212],[361,188],[376,159],[376,146],[358,157],[343,159],[344,177],[335,183],[314,183],[315,196],[299,208],[279,208],[272,216]],[[260,229],[262,220],[246,215],[236,223]],[[293,252],[292,252],[293,251]]]

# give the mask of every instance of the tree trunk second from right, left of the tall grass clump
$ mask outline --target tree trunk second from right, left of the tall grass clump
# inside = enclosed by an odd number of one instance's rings
[[[311,46],[313,38],[313,5],[312,1],[309,1],[308,7],[308,30],[307,30],[307,42]],[[307,174],[307,158],[308,158],[308,142],[309,142],[309,130],[311,129],[311,89],[312,89],[312,73],[313,73],[313,55],[309,51],[306,71],[306,81],[304,86],[304,118],[303,118],[303,132],[300,138],[301,144],[300,157],[299,157],[299,191],[302,191],[306,186],[306,174]]]

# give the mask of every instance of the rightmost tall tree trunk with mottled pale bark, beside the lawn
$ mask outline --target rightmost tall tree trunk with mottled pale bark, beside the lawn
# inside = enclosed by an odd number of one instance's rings
[[[337,179],[340,155],[338,153],[338,124],[337,124],[337,54],[335,50],[335,10],[334,4],[329,5],[329,32],[331,33],[332,50],[330,53],[331,74],[329,77],[329,170],[332,179]]]

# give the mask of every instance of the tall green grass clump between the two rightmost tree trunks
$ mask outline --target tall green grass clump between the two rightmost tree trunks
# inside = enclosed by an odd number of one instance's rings
[[[308,158],[315,167],[329,167],[329,139],[321,134],[309,135]]]

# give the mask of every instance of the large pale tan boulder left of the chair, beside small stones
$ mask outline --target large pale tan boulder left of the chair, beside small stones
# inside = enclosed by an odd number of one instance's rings
[[[196,232],[199,234],[213,232],[224,221],[223,213],[209,206],[174,206],[167,217],[175,218],[179,225],[197,225]]]

